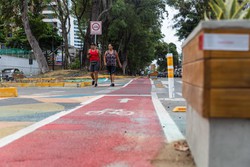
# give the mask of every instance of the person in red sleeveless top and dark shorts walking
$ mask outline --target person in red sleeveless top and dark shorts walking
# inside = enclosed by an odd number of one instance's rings
[[[100,70],[100,52],[96,48],[95,43],[91,43],[87,58],[89,59],[90,62],[89,70],[90,70],[90,76],[92,78],[92,85],[97,87],[98,73]]]

